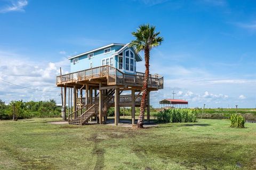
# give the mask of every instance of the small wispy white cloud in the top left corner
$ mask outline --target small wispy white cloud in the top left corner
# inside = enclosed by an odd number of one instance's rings
[[[17,0],[17,1],[10,1],[10,5],[6,5],[3,9],[0,10],[0,13],[18,11],[18,12],[25,12],[24,7],[28,5],[27,0]]]

